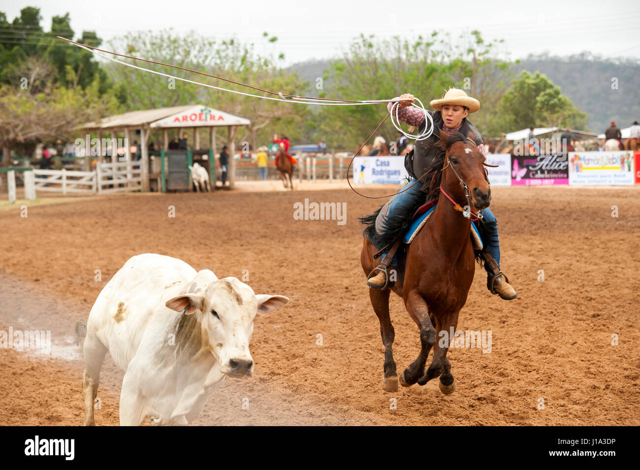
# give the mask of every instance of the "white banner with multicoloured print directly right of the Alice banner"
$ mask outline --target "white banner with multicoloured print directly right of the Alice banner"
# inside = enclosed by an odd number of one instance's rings
[[[633,152],[571,152],[569,184],[634,184]]]

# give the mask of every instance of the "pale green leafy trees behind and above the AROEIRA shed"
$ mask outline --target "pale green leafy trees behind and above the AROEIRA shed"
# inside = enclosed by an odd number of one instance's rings
[[[267,33],[264,33],[263,38],[270,45],[276,42],[276,38],[269,37]],[[307,86],[297,74],[286,74],[278,67],[282,54],[279,54],[278,58],[275,58],[275,53],[263,56],[255,52],[253,44],[241,44],[233,38],[216,41],[195,33],[180,36],[172,30],[157,33],[147,31],[125,35],[113,41],[111,47],[116,52],[180,65],[180,67],[275,92],[297,94]],[[257,90],[184,70],[149,63],[136,63],[136,65],[229,90],[264,95]],[[296,126],[300,126],[307,113],[307,109],[301,105],[246,97],[183,81],[174,81],[168,77],[141,72],[117,63],[108,65],[108,74],[116,84],[118,99],[125,111],[202,102],[202,104],[250,119],[252,124],[248,126],[248,130],[236,128],[236,131],[240,131],[238,140],[247,140],[253,148],[259,145],[259,142],[270,142],[275,132],[287,133],[290,138],[294,138]],[[297,107],[294,108],[294,106]],[[235,134],[230,136],[230,139],[234,138],[236,138]]]

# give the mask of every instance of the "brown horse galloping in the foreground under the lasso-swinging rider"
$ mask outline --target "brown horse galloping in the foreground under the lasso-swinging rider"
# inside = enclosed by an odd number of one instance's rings
[[[455,389],[451,363],[447,359],[452,338],[443,341],[446,336],[442,332],[449,335],[450,328],[455,331],[476,268],[470,239],[471,222],[460,209],[472,206],[477,211],[488,207],[491,190],[484,174],[484,156],[473,142],[473,136],[465,139],[458,133],[449,137],[440,131],[440,137],[436,145],[444,156],[441,154],[441,159],[432,166],[436,172],[429,199],[438,193],[440,179],[440,188],[460,207],[454,206],[445,193],[440,192],[438,205],[428,222],[406,248],[404,277],[398,275],[396,282],[385,289],[369,288],[385,346],[382,389],[387,392],[397,391],[398,384],[392,352],[395,332],[389,318],[390,291],[403,298],[406,310],[420,330],[422,346],[417,359],[401,374],[401,385],[408,387],[416,382],[424,385],[432,378],[440,377],[442,393],[449,394]],[[373,259],[377,251],[365,237],[360,255],[365,275],[378,265]],[[431,348],[434,349],[433,360],[425,371]]]

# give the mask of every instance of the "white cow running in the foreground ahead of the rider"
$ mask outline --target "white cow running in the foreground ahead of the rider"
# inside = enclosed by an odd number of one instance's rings
[[[249,342],[256,313],[282,307],[235,277],[218,279],[168,256],[129,259],[100,292],[83,345],[84,425],[107,351],[125,371],[120,425],[188,425],[227,376],[253,372]]]

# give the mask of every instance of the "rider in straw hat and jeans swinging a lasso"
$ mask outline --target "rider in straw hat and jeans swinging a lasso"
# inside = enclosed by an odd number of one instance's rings
[[[397,99],[402,100],[397,110],[399,120],[410,126],[417,127],[420,131],[424,130],[426,126],[424,112],[411,106],[413,95],[405,93],[397,97]],[[474,143],[477,145],[478,150],[486,156],[480,133],[476,129],[476,126],[467,120],[469,113],[475,113],[480,109],[480,102],[477,101],[477,99],[469,97],[463,90],[451,88],[445,93],[442,99],[433,100],[430,104],[436,111],[426,112],[433,118],[433,126],[435,129],[442,129],[442,131],[447,134],[461,133],[465,136],[472,132],[475,136]],[[393,103],[390,102],[387,106],[388,111],[391,111],[392,106]],[[439,139],[440,135],[435,131],[426,140],[416,141],[413,150],[406,154],[404,166],[410,176],[410,180],[407,186],[394,196],[388,204],[387,212],[384,214],[387,222],[390,217],[394,216],[394,213],[397,213],[398,209],[412,204],[419,198],[424,200],[424,193],[429,191],[431,184],[429,175],[425,176],[425,174],[436,158],[438,149],[433,144]],[[504,279],[505,276],[499,268],[500,245],[495,216],[493,216],[489,208],[483,209],[481,213],[483,215],[484,228],[486,229],[483,239],[485,247],[483,256],[486,260],[484,268],[488,275],[487,288],[493,294],[500,295],[504,300],[512,300],[516,298],[517,293],[515,289],[508,284],[506,279]],[[388,227],[388,225],[385,225],[383,230],[395,228],[397,227]],[[385,288],[385,286],[387,286],[387,273],[381,270],[377,275],[367,281],[367,285],[377,289]]]

